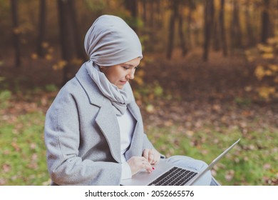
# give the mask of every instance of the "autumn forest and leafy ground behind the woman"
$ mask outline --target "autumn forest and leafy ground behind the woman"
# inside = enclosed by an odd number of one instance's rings
[[[222,185],[278,185],[277,0],[0,0],[0,185],[48,185],[43,126],[88,58],[101,14],[138,33],[131,82],[145,132],[166,156],[210,163]]]

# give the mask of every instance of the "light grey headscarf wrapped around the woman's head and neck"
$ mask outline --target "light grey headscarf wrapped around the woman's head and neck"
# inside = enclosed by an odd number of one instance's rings
[[[88,30],[84,46],[90,60],[83,66],[85,65],[88,74],[103,95],[110,99],[115,113],[118,116],[123,115],[133,96],[128,96],[124,88],[118,89],[111,84],[99,66],[114,66],[138,57],[142,58],[142,48],[137,34],[118,16],[103,15],[98,17]]]

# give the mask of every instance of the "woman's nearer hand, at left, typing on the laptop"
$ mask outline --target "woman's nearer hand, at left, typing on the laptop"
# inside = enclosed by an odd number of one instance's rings
[[[127,161],[127,163],[130,166],[131,174],[133,175],[141,169],[145,169],[149,173],[153,171],[153,167],[143,156],[133,156]]]

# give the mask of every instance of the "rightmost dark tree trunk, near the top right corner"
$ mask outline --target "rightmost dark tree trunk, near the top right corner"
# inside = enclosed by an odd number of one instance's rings
[[[269,0],[264,0],[264,9],[262,11],[262,43],[267,42],[269,38],[270,20],[269,20]]]

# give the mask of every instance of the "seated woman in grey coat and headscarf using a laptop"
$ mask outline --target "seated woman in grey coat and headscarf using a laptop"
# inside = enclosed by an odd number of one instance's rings
[[[143,58],[138,36],[117,16],[100,16],[84,46],[90,60],[59,91],[46,114],[45,143],[53,185],[119,185],[149,173],[160,153],[143,132],[128,81]],[[185,156],[165,159],[201,170]],[[212,177],[208,173],[207,184]]]

